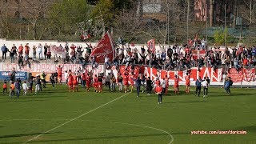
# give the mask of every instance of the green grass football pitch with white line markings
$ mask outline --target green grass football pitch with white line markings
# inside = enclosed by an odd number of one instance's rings
[[[2,83],[1,83],[2,85]],[[156,94],[102,94],[50,85],[39,94],[0,96],[0,143],[256,143],[255,89],[209,89],[209,97],[172,90]],[[194,87],[191,88],[194,90]],[[247,134],[191,134],[192,130],[246,130]],[[29,142],[28,142],[29,141]]]

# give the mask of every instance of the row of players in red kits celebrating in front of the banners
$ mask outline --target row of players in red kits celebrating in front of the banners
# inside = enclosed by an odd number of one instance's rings
[[[62,74],[62,67],[58,67],[58,74]],[[169,88],[169,78],[166,76],[160,81],[158,76],[155,78],[155,81],[152,82],[150,77],[146,78],[145,74],[139,74],[139,70],[131,69],[129,66],[126,67],[122,72],[118,72],[117,77],[115,78],[113,72],[106,74],[92,74],[88,70],[82,72],[82,70],[76,70],[71,72],[69,70],[65,73],[66,84],[71,91],[78,91],[78,83],[81,83],[81,86],[86,88],[86,91],[90,91],[90,87],[94,87],[96,93],[102,93],[103,81],[105,82],[106,87],[109,87],[110,91],[115,91],[115,86],[118,85],[118,90],[122,92],[122,86],[124,86],[124,92],[132,92],[134,86],[142,86],[142,93],[146,91],[148,95],[151,94],[151,91],[154,88],[156,92],[156,87],[161,86],[161,94],[167,94]],[[61,76],[61,75],[59,75]],[[136,83],[140,79],[140,84]],[[190,93],[190,74],[186,74],[186,93]],[[111,87],[111,88],[110,88]],[[111,90],[112,89],[112,90]],[[130,89],[130,90],[129,90]],[[137,89],[138,90],[138,89]],[[140,90],[140,89],[139,89]],[[159,92],[158,92],[159,93]],[[179,93],[179,77],[178,75],[174,76],[174,94]]]

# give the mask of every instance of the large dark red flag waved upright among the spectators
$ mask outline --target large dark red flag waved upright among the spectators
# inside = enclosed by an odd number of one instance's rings
[[[103,36],[103,38],[98,42],[96,46],[94,46],[94,50],[90,54],[90,56],[95,57],[95,62],[104,63],[105,57],[110,58],[110,61],[114,58],[114,45],[112,42],[112,38],[110,37],[109,32]]]

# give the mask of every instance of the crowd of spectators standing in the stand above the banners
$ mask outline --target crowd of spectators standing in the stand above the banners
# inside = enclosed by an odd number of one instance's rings
[[[65,50],[62,56],[54,54],[51,58],[51,46],[45,44],[42,46],[32,46],[33,56],[30,57],[30,46],[13,45],[11,48],[2,46],[2,59],[6,59],[6,54],[10,54],[10,62],[18,62],[19,66],[28,65],[30,62],[38,60],[48,60],[52,62],[72,62],[80,63],[82,66],[97,66],[95,58],[90,55],[94,47],[86,43],[86,47],[75,46],[74,44],[65,43],[65,46],[58,46]],[[241,67],[256,66],[256,47],[255,46],[237,46],[233,48],[221,48],[219,46],[207,46],[205,39],[189,39],[185,45],[160,46],[157,50],[150,50],[147,46],[130,46],[118,38],[115,45],[115,55],[113,61],[105,58],[107,68],[110,66],[120,65],[137,65],[142,64],[152,66],[158,70],[188,70],[190,67],[207,66],[214,69],[222,66],[228,70],[234,66],[237,70]]]

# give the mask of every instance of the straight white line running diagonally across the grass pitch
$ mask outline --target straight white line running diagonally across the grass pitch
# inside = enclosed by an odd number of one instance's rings
[[[130,93],[127,93],[127,94],[130,94]],[[119,98],[122,98],[122,97],[126,96],[127,94],[123,94],[122,96],[120,96],[120,97],[118,97],[118,98],[115,98],[115,99],[113,99],[113,100],[110,101],[110,102],[106,102],[106,103],[103,104],[102,106],[96,107],[94,110],[98,110],[99,108],[101,108],[101,107],[103,107],[103,106],[106,106],[106,105],[110,104],[111,102],[114,102],[114,101],[118,100]],[[37,139],[37,138],[41,137],[43,134],[47,134],[47,133],[49,133],[50,131],[55,130],[55,129],[58,129],[59,127],[64,126],[64,125],[66,125],[67,123],[70,123],[70,122],[72,122],[72,121],[74,121],[74,120],[76,120],[76,119],[78,119],[78,118],[81,118],[82,116],[84,116],[84,115],[86,115],[86,114],[90,114],[90,113],[93,112],[94,110],[87,111],[85,114],[81,114],[81,115],[79,115],[77,118],[72,118],[72,119],[70,119],[69,121],[62,123],[62,124],[59,125],[59,126],[56,126],[56,127],[52,128],[52,129],[50,129],[50,130],[47,130],[46,132],[43,132],[42,134],[38,134],[36,137],[31,138],[31,139],[27,140],[26,142],[31,142],[31,141],[33,141],[34,139]],[[26,143],[26,142],[24,142],[24,143]]]

